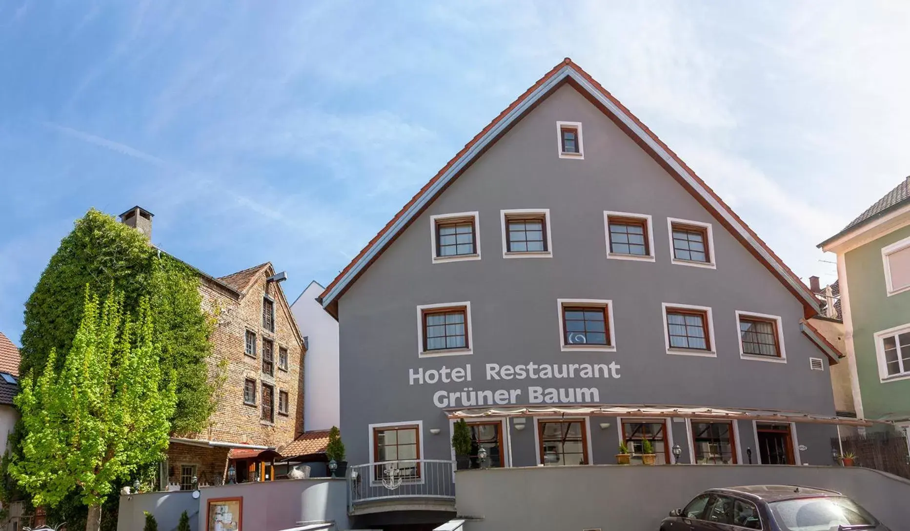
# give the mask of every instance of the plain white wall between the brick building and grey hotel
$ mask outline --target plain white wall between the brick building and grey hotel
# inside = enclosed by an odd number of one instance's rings
[[[319,430],[339,426],[339,324],[316,302],[325,288],[315,280],[307,286],[291,311],[308,337],[304,356],[304,429]]]

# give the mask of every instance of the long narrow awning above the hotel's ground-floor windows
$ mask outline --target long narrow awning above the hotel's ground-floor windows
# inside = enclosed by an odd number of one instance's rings
[[[862,418],[818,416],[796,411],[651,405],[473,407],[466,409],[447,409],[446,413],[449,418],[477,418],[484,416],[682,416],[760,420],[764,422],[838,424],[845,426],[872,426],[873,422],[875,422]]]

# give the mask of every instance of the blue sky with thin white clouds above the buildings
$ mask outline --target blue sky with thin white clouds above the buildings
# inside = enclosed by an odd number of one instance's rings
[[[910,6],[0,2],[0,330],[89,207],[215,276],[326,284],[571,56],[797,275],[910,173]]]

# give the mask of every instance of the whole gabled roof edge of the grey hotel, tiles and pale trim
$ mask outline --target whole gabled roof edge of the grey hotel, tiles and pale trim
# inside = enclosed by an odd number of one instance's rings
[[[771,273],[780,280],[791,293],[796,296],[805,308],[806,316],[818,313],[818,301],[799,277],[787,267],[773,251],[765,245],[761,238],[746,225],[733,210],[723,203],[704,181],[695,175],[692,168],[682,162],[678,155],[663,144],[650,129],[632,115],[619,100],[607,92],[599,83],[594,81],[579,65],[568,57],[541,79],[531,85],[524,94],[506,107],[489,125],[474,136],[461,151],[452,157],[448,164],[440,169],[439,173],[430,179],[427,185],[414,195],[407,205],[401,208],[379,234],[373,237],[360,253],[350,261],[339,276],[319,297],[322,306],[332,316],[338,317],[338,299],[348,290],[359,276],[376,260],[381,253],[389,247],[395,238],[403,232],[410,223],[416,219],[424,209],[438,197],[450,183],[459,177],[470,165],[490,148],[502,135],[518,123],[531,109],[539,104],[548,95],[564,84],[572,85],[581,95],[584,95],[591,104],[597,106],[616,125],[629,135],[633,141],[642,147],[652,158],[675,178],[686,190],[689,191],[704,208],[706,208],[734,237],[736,237]]]

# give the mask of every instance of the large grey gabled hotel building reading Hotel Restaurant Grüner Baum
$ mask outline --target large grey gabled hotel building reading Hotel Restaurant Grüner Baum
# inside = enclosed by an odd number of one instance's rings
[[[620,443],[640,463],[645,439],[658,463],[830,465],[835,425],[864,424],[835,416],[811,290],[569,59],[320,302],[362,526],[378,498],[450,493],[461,418],[472,467],[612,464]],[[453,510],[424,508],[396,521]]]

